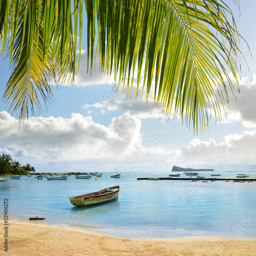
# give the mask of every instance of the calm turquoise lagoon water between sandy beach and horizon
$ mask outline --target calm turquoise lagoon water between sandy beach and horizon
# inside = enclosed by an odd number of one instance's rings
[[[217,172],[216,172],[217,173]],[[22,177],[0,183],[2,199],[8,198],[9,218],[45,221],[63,226],[89,228],[127,238],[174,238],[224,236],[256,238],[255,182],[190,182],[137,180],[167,177],[169,173],[122,173],[102,177],[48,181]],[[221,178],[238,173],[223,172]],[[246,172],[256,178],[256,172]],[[210,177],[210,173],[201,173]],[[185,177],[185,175],[182,175]],[[69,197],[120,185],[118,200],[89,207],[73,206]]]

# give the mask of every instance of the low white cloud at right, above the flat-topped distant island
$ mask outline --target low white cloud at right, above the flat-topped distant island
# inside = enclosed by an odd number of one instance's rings
[[[225,165],[248,167],[255,164],[255,151],[256,130],[225,136],[221,143],[217,143],[214,139],[208,141],[193,139],[182,148],[179,158],[200,166],[211,165],[216,169]]]

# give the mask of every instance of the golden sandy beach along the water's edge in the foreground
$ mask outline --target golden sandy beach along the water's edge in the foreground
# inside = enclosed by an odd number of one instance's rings
[[[125,239],[39,221],[9,220],[8,224],[8,253],[4,251],[2,228],[0,255],[256,255],[256,239]]]

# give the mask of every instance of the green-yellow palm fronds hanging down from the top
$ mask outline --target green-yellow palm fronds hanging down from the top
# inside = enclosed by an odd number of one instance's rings
[[[19,113],[21,121],[30,110],[32,114],[40,112],[39,95],[46,103],[51,100],[52,79],[74,82],[81,54],[84,6],[87,72],[92,73],[97,27],[99,71],[108,77],[114,75],[117,88],[122,86],[130,94],[136,75],[138,93],[140,78],[144,77],[146,97],[154,90],[154,104],[162,106],[167,116],[174,110],[175,117],[179,115],[189,127],[192,124],[196,133],[208,126],[211,112],[216,118],[221,117],[223,109],[226,113],[228,87],[235,96],[229,73],[238,85],[241,36],[224,0],[84,3],[0,2],[1,49],[2,53],[7,49],[13,70],[4,100],[12,114]]]

